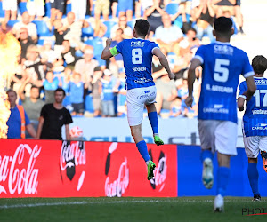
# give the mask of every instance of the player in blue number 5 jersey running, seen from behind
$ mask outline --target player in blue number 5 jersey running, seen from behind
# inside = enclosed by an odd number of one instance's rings
[[[239,75],[247,81],[244,95],[249,100],[255,92],[254,72],[246,52],[232,46],[232,21],[220,17],[214,21],[216,42],[198,48],[188,73],[189,96],[187,106],[193,102],[195,69],[202,66],[201,93],[198,103],[198,131],[203,162],[202,181],[210,189],[214,183],[213,156],[217,151],[219,168],[214,211],[223,211],[223,196],[230,177],[230,157],[237,155],[237,101]]]

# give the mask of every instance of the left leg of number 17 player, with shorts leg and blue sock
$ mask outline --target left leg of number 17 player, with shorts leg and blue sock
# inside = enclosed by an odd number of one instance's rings
[[[261,195],[259,193],[258,180],[259,180],[259,172],[257,169],[257,157],[259,154],[259,142],[260,138],[258,136],[255,137],[244,137],[244,145],[245,152],[248,158],[248,166],[247,166],[247,176],[249,179],[249,184],[251,190],[254,195],[254,201],[260,201]]]

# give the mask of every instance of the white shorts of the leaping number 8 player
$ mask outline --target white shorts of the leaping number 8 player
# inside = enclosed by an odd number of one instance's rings
[[[142,123],[144,105],[156,102],[156,86],[127,91],[127,118],[130,126]]]

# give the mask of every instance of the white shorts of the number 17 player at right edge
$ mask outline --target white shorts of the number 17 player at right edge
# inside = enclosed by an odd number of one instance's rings
[[[260,150],[267,152],[267,137],[244,137],[246,155],[249,158],[257,158]]]

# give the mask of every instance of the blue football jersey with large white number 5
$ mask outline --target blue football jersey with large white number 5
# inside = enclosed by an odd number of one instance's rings
[[[202,63],[198,119],[238,122],[239,75],[254,75],[247,53],[229,43],[202,45],[195,55]]]

